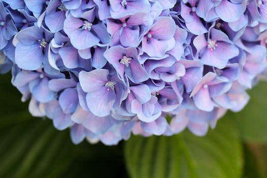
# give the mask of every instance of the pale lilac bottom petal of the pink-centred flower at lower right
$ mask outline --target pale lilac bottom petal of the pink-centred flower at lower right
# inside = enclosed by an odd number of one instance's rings
[[[214,108],[214,103],[211,100],[209,88],[202,87],[196,95],[193,96],[195,105],[198,109],[203,111],[212,111]]]

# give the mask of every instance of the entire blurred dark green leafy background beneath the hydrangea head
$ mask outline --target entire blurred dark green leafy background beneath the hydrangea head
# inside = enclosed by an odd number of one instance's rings
[[[205,137],[184,131],[105,146],[74,145],[69,130],[32,117],[10,80],[0,75],[0,177],[267,177],[267,82],[248,91],[248,106],[228,112]]]

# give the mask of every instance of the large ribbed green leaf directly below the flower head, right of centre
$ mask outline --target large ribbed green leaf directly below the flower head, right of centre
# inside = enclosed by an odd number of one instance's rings
[[[235,178],[243,166],[238,133],[226,119],[205,137],[188,131],[171,137],[132,136],[125,159],[132,178]]]

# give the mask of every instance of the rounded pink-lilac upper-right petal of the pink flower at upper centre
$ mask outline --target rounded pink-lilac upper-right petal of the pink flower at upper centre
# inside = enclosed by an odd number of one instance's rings
[[[174,20],[171,17],[158,17],[156,20],[150,28],[151,35],[161,40],[171,39],[176,29]]]

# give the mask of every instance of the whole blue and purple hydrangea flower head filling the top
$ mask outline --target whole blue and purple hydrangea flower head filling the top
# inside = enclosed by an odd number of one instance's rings
[[[0,0],[0,72],[74,143],[204,135],[266,70],[266,12],[267,0]]]

